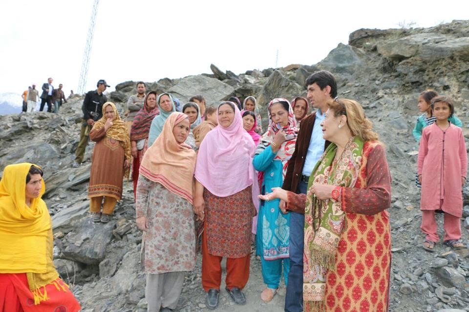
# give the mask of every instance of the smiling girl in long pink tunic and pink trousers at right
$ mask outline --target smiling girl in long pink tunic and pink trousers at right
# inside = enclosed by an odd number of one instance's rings
[[[422,231],[426,234],[424,249],[433,251],[440,238],[435,210],[445,215],[444,244],[452,249],[464,247],[461,238],[462,186],[466,183],[468,156],[461,128],[448,119],[454,113],[452,101],[445,96],[432,99],[436,122],[424,128],[420,140],[418,178],[422,184],[420,209]]]

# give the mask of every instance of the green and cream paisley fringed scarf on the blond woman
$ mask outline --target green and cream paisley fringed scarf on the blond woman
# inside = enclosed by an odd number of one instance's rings
[[[303,300],[305,311],[325,311],[327,270],[335,270],[336,253],[345,225],[341,202],[319,200],[310,192],[314,184],[353,187],[362,164],[364,141],[352,137],[339,160],[337,145],[331,143],[316,164],[308,181],[304,211]]]

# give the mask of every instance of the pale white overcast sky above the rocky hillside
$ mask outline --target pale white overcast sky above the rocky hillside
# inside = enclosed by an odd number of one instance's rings
[[[77,90],[94,0],[1,0],[0,93],[54,78]],[[332,3],[332,4],[331,4]],[[314,64],[360,28],[469,19],[469,1],[100,0],[86,90],[99,79],[157,81]]]

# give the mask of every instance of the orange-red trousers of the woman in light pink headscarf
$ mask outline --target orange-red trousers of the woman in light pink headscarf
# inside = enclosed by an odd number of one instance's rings
[[[221,260],[223,257],[209,253],[207,247],[207,230],[202,233],[202,287],[205,291],[220,289],[221,284]],[[249,279],[249,265],[251,254],[242,258],[226,259],[226,287],[231,290],[234,287],[243,289]]]

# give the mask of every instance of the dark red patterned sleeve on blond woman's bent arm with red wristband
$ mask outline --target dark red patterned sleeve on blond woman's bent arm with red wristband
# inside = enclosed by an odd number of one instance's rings
[[[366,188],[342,187],[342,210],[367,215],[391,206],[391,175],[384,147],[378,145],[367,157]]]

